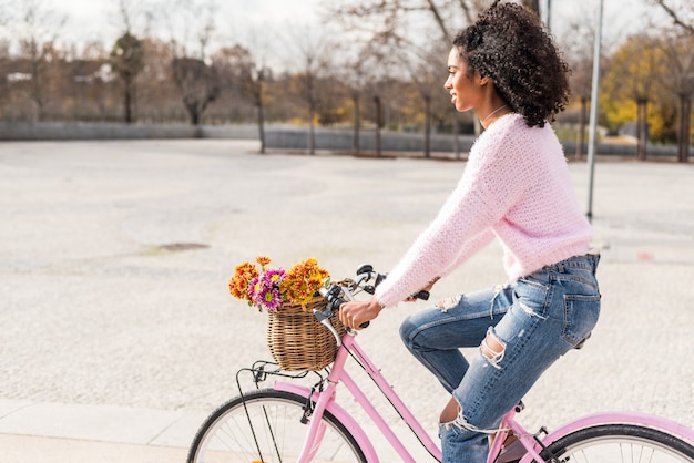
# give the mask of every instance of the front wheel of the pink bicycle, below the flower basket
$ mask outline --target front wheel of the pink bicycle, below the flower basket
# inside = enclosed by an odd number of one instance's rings
[[[274,389],[232,399],[203,423],[187,461],[296,462],[308,432],[305,409],[306,398]],[[323,414],[319,433],[312,462],[366,462],[353,435],[328,411]]]

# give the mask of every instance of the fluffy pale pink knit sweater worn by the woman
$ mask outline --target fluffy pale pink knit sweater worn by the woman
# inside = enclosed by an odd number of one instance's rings
[[[514,281],[588,253],[591,235],[550,125],[529,127],[521,115],[509,114],[474,143],[456,189],[376,297],[385,306],[398,303],[453,271],[494,236]]]

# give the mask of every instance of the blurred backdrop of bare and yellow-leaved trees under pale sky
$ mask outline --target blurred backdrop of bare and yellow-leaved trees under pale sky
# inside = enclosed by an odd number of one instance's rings
[[[523,0],[572,69],[555,130],[585,153],[599,0]],[[688,161],[694,2],[602,0],[599,136]],[[0,1],[0,124],[257,125],[477,134],[442,85],[490,0]],[[427,144],[428,146],[428,144]],[[573,146],[573,145],[572,145]],[[426,147],[428,150],[428,147]],[[458,146],[455,147],[459,150]],[[574,151],[574,148],[571,148]]]

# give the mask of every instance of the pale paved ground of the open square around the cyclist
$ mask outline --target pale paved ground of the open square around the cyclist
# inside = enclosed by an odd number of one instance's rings
[[[387,270],[465,165],[256,148],[0,145],[1,463],[183,461],[235,372],[267,358],[264,316],[226,291],[235,265],[265,254],[314,256],[336,277],[365,261]],[[570,168],[585,203],[586,165]],[[521,421],[634,410],[694,426],[694,165],[600,160],[595,173],[602,318]],[[490,246],[433,297],[502,282],[499,259]],[[433,431],[446,399],[397,339],[417,308],[359,339]]]

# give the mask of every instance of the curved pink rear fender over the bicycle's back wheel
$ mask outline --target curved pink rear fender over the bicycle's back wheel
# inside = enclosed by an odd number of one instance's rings
[[[675,435],[694,445],[694,430],[691,430],[666,418],[636,412],[603,412],[580,418],[549,433],[544,439],[542,439],[542,444],[548,446],[552,442],[559,440],[567,434],[571,434],[574,431],[601,424],[634,424],[653,428]],[[535,445],[535,450],[538,452],[541,451],[539,445]],[[519,463],[530,462],[532,462],[532,456],[525,455],[520,460]]]

